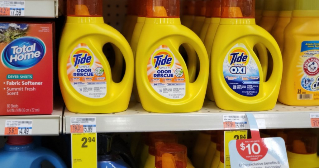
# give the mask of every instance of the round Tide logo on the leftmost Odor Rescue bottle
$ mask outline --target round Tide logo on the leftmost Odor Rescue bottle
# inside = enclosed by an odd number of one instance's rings
[[[72,52],[71,62],[75,68],[90,68],[93,65],[94,57],[87,48],[78,48]]]

